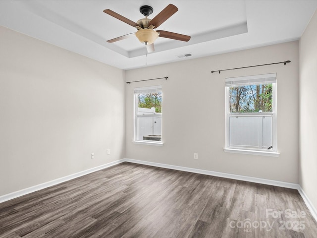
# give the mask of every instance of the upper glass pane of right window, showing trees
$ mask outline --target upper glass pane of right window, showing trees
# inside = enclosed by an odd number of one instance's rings
[[[230,113],[271,113],[272,84],[254,84],[229,88]]]

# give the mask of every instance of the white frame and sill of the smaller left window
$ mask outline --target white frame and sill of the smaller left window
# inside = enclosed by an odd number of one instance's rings
[[[162,126],[161,126],[161,140],[160,141],[155,141],[155,140],[140,140],[138,139],[138,118],[140,117],[160,117],[162,121],[162,113],[156,113],[154,112],[153,114],[148,114],[148,115],[140,115],[138,114],[138,95],[141,93],[153,93],[153,92],[162,92],[162,86],[157,85],[157,86],[150,86],[150,87],[140,87],[140,88],[134,88],[134,117],[133,117],[133,124],[134,124],[134,129],[133,129],[133,143],[134,144],[143,144],[143,145],[154,145],[154,146],[162,146],[163,145],[163,136],[162,136]]]

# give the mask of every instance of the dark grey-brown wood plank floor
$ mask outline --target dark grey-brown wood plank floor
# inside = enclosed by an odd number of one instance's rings
[[[0,238],[97,237],[317,238],[317,223],[294,189],[131,163],[0,203]]]

